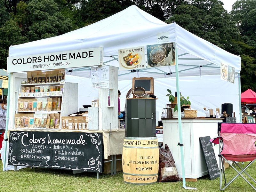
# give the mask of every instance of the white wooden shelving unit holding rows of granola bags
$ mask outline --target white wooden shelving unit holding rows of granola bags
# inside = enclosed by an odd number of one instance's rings
[[[22,87],[40,87],[40,86],[58,86],[63,85],[62,95],[54,95],[54,96],[35,96],[35,97],[24,97],[20,96],[20,92],[22,92]],[[61,109],[56,111],[18,111],[18,104],[16,106],[16,113],[60,113],[60,129],[62,128],[61,124],[61,116],[68,116],[71,113],[75,113],[78,111],[78,84],[77,83],[69,83],[65,82],[64,84],[60,83],[44,83],[44,84],[21,84],[18,94],[18,99],[37,99],[37,98],[52,98],[52,97],[60,97],[61,100]],[[18,100],[17,99],[17,100]],[[13,121],[14,122],[14,121]],[[14,124],[9,129],[15,129]],[[32,129],[31,129],[32,130]],[[36,129],[38,130],[38,129]],[[43,129],[49,130],[49,129]]]

